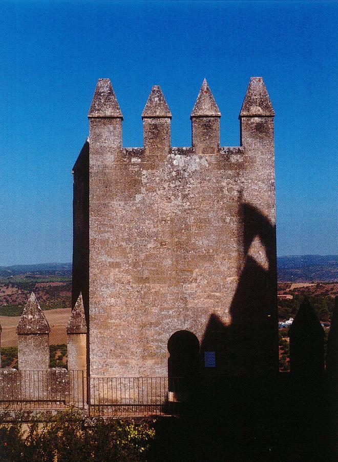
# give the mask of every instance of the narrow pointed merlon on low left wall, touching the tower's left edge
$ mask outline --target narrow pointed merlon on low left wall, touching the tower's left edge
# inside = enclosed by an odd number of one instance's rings
[[[87,367],[87,322],[82,294],[79,295],[67,325],[68,370],[85,371]]]

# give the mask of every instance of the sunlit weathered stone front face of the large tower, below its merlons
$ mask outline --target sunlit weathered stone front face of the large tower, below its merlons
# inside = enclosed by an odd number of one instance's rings
[[[231,323],[250,160],[241,148],[226,151],[201,158],[174,149],[155,169],[154,159],[120,152],[93,176],[93,375],[166,375],[172,334],[189,330],[202,341],[210,315]]]

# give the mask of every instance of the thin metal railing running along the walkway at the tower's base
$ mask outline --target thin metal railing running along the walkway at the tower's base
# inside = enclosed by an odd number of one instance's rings
[[[89,415],[177,413],[182,379],[167,377],[86,377],[85,371],[0,370],[0,410],[58,410]]]

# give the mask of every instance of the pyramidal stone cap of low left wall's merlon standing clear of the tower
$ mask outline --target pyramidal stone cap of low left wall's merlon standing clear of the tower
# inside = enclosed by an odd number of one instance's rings
[[[32,292],[16,328],[18,334],[49,334],[48,321]]]

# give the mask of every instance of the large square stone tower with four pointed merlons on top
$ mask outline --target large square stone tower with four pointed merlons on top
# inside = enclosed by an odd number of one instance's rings
[[[109,79],[88,117],[73,170],[73,303],[81,292],[90,374],[276,373],[274,112],[263,79],[250,79],[236,147],[220,146],[206,80],[189,147],[171,147],[159,86],[142,112],[142,148],[122,146]]]

